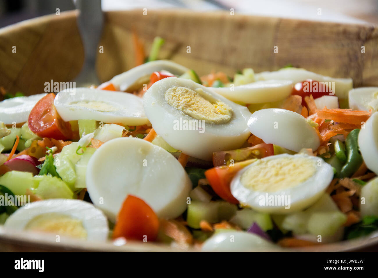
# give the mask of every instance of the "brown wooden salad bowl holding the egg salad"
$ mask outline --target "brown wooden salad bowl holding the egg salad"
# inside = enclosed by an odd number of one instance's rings
[[[76,17],[77,11],[62,12],[59,16],[38,17],[0,29],[0,85],[11,93],[33,95],[43,93],[45,82],[51,79],[74,79],[84,61]],[[323,75],[353,78],[354,87],[378,86],[378,27],[373,25],[180,9],[149,10],[146,16],[141,9],[109,11],[104,13],[104,19],[99,43],[104,53],[98,53],[96,63],[102,82],[135,66],[135,32],[146,50],[155,36],[163,37],[166,43],[159,58],[172,59],[199,75],[212,70],[233,75],[245,67],[252,67],[255,72],[278,70],[292,64]],[[14,47],[16,53],[12,52]],[[278,53],[274,53],[274,47]],[[41,235],[9,233],[0,227],[0,251],[180,250],[150,243],[116,246],[111,242],[73,239],[57,243]],[[376,251],[378,232],[366,238],[297,250]]]

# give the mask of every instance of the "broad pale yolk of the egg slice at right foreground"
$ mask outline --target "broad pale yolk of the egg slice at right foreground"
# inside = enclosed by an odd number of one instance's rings
[[[240,182],[254,191],[276,192],[293,188],[316,172],[316,162],[304,157],[258,160],[245,171]]]

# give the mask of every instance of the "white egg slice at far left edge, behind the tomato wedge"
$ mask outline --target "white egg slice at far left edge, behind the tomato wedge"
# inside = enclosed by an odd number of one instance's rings
[[[28,121],[34,105],[47,93],[32,96],[17,96],[0,102],[0,121],[5,124],[19,124]]]

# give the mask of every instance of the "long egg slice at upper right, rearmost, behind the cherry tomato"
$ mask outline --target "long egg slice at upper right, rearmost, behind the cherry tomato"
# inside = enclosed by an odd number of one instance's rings
[[[255,74],[256,80],[290,80],[293,83],[301,82],[307,79],[319,82],[335,82],[335,96],[341,99],[348,99],[349,90],[353,89],[352,78],[333,78],[330,76],[319,75],[304,68],[282,68],[277,71],[263,71]],[[332,84],[332,83],[331,83]],[[328,88],[331,88],[328,84]]]

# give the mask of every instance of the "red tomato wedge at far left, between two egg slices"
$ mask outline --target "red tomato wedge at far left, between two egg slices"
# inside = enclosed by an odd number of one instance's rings
[[[28,126],[39,137],[66,141],[72,137],[71,125],[60,118],[54,98],[54,93],[50,93],[36,103],[29,114]]]

